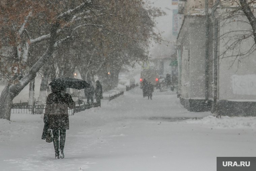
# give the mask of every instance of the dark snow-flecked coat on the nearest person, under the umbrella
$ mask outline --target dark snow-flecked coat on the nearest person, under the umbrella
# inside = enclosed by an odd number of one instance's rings
[[[46,100],[43,122],[50,129],[69,129],[68,107],[73,109],[75,102],[67,93],[51,93]]]

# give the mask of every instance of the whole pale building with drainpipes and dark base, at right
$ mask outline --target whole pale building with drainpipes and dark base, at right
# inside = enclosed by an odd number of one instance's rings
[[[179,4],[183,13],[177,38],[179,97],[189,111],[256,115],[252,27],[246,16],[231,15],[234,9],[238,8],[216,0],[209,0],[206,9],[199,0]]]

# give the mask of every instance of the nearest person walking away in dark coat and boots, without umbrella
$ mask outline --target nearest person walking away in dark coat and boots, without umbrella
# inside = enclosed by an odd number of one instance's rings
[[[69,129],[68,107],[73,109],[75,102],[64,92],[64,87],[53,87],[48,95],[43,117],[44,124],[53,131],[55,159],[64,158],[66,130]],[[59,141],[60,138],[60,141]]]

